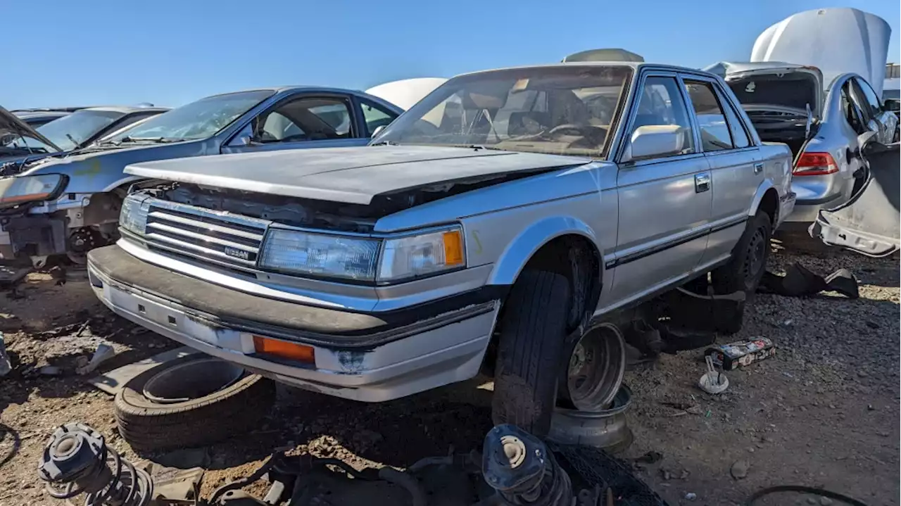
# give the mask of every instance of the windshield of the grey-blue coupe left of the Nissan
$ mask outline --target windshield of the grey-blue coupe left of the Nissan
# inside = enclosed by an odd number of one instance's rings
[[[132,140],[206,139],[274,93],[272,90],[257,90],[208,96],[153,116],[150,120],[137,123],[133,128],[120,131],[107,140],[118,142],[125,138]]]

